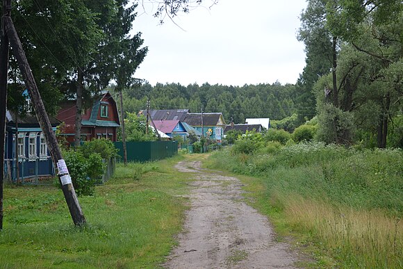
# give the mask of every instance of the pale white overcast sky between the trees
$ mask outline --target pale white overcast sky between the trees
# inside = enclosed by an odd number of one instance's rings
[[[133,30],[149,52],[135,74],[155,83],[295,83],[305,66],[296,38],[305,0],[219,0],[163,25],[156,6],[138,8]],[[154,8],[154,9],[153,9]],[[146,13],[144,13],[144,11]]]

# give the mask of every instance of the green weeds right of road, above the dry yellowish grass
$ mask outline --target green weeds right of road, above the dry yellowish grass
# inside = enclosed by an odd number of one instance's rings
[[[403,152],[347,149],[323,142],[244,154],[227,149],[212,156],[215,168],[265,177],[270,188],[355,209],[384,209],[402,218]],[[232,154],[229,154],[231,151]]]

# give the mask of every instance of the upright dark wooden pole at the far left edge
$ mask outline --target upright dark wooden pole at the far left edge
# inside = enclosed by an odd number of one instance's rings
[[[3,0],[3,17],[1,19],[0,47],[0,229],[3,229],[3,183],[4,183],[4,146],[6,142],[7,113],[7,77],[8,77],[8,37],[3,18],[10,17],[11,0]]]

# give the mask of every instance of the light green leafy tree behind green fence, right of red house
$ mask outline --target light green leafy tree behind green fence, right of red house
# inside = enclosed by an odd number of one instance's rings
[[[154,129],[149,127],[149,133],[146,133],[147,119],[144,115],[140,117],[136,113],[126,113],[124,127],[126,131],[126,141],[155,141],[157,140]]]

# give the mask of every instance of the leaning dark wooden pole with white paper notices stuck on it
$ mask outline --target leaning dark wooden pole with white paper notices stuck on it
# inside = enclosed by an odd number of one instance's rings
[[[67,166],[63,160],[58,141],[56,140],[56,135],[52,130],[49,117],[44,109],[43,101],[40,97],[35,79],[33,78],[28,60],[26,59],[24,49],[22,49],[22,44],[17,35],[17,31],[15,30],[13,20],[11,17],[4,17],[4,23],[6,25],[6,34],[10,40],[10,46],[13,48],[13,54],[17,59],[19,70],[21,70],[21,73],[24,76],[25,85],[26,88],[28,88],[36,117],[38,117],[38,122],[42,132],[44,133],[44,138],[47,141],[49,152],[52,160],[54,161],[55,167],[58,168],[59,181],[65,195],[67,206],[69,207],[70,215],[72,215],[74,225],[84,225],[85,218],[83,212],[81,211],[79,200],[77,199],[77,195],[72,184],[72,179],[69,176],[69,171],[67,170]]]

